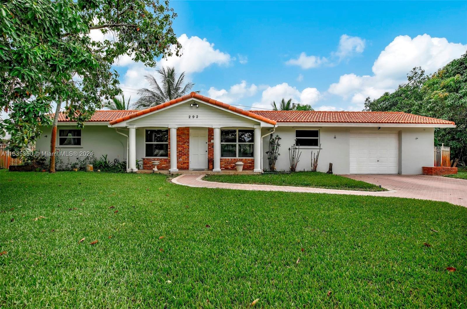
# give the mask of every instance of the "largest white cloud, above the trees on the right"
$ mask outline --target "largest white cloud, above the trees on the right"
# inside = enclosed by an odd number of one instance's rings
[[[351,98],[356,104],[349,110],[363,108],[366,97],[376,98],[386,91],[394,91],[407,82],[407,73],[414,67],[422,67],[427,74],[434,73],[466,52],[467,45],[450,43],[446,38],[432,38],[428,34],[411,39],[408,35],[397,36],[380,53],[373,64],[372,76],[354,73],[340,76],[339,82],[329,86],[328,92]]]

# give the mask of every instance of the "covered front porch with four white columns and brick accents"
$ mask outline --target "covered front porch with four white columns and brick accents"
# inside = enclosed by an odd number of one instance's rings
[[[129,126],[128,134],[127,172],[153,172],[153,162],[157,162],[158,172],[166,173],[231,173],[237,172],[237,162],[243,163],[243,173],[262,172],[260,125]]]

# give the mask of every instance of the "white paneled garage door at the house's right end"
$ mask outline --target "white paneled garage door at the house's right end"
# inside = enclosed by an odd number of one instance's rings
[[[397,174],[397,132],[350,131],[351,174]]]

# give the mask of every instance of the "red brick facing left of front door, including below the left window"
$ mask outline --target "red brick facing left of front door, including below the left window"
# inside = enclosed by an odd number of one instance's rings
[[[169,158],[143,158],[143,170],[152,170],[152,161],[160,161],[159,170],[170,169],[170,130]],[[180,170],[188,170],[190,165],[190,127],[177,128],[177,166]]]

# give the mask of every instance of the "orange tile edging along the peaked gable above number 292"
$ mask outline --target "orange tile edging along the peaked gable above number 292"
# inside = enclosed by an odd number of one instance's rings
[[[201,96],[200,94],[198,94],[198,93],[196,93],[196,92],[191,92],[189,95],[185,95],[185,96],[179,97],[179,98],[177,98],[177,99],[173,99],[173,100],[171,100],[171,101],[169,101],[169,102],[162,103],[162,104],[159,104],[159,105],[150,107],[150,108],[145,109],[145,110],[138,110],[137,112],[130,113],[130,114],[125,115],[125,116],[123,116],[123,117],[120,117],[120,118],[118,118],[118,119],[112,120],[112,121],[110,121],[110,124],[118,124],[118,123],[120,123],[120,122],[127,121],[127,120],[129,120],[129,119],[134,118],[134,117],[139,117],[139,116],[141,116],[141,115],[144,115],[144,114],[153,112],[153,111],[155,111],[155,110],[161,110],[161,109],[163,109],[164,107],[173,105],[173,104],[175,104],[175,103],[182,102],[182,101],[187,100],[187,99],[190,99],[190,98],[196,98],[196,99],[201,100],[201,101],[204,101],[204,102],[206,102],[206,103],[209,103],[209,104],[212,104],[212,105],[216,105],[216,106],[220,106],[220,107],[222,107],[222,108],[225,108],[226,110],[232,110],[233,112],[236,112],[236,113],[238,113],[238,114],[245,115],[245,116],[254,118],[254,119],[256,119],[256,120],[263,121],[263,122],[268,123],[268,124],[276,124],[276,121],[275,121],[275,120],[268,119],[268,118],[263,117],[263,116],[261,116],[261,115],[258,115],[258,114],[254,114],[254,113],[252,113],[252,112],[249,112],[249,111],[247,111],[247,110],[239,109],[238,107],[233,107],[232,105],[229,105],[229,104],[226,104],[226,103],[222,103],[222,102],[216,101],[216,100],[211,99],[211,98],[209,98],[209,97],[207,97],[207,96]]]

